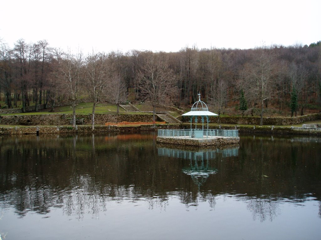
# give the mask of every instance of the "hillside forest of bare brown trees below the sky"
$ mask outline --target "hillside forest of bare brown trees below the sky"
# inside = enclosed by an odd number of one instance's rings
[[[94,43],[93,43],[94,44]],[[92,52],[59,49],[46,40],[13,48],[1,43],[0,92],[6,107],[46,107],[56,101],[126,100],[178,108],[201,98],[213,110],[302,115],[321,109],[321,42],[255,49],[179,52]],[[4,106],[1,106],[4,107]],[[232,111],[230,110],[230,111]]]

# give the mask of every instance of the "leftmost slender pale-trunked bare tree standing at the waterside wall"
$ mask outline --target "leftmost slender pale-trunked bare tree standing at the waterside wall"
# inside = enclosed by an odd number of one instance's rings
[[[76,126],[76,100],[82,90],[83,80],[83,54],[78,50],[77,54],[72,54],[71,50],[65,54],[65,59],[60,65],[62,89],[69,95],[73,105],[73,126]]]

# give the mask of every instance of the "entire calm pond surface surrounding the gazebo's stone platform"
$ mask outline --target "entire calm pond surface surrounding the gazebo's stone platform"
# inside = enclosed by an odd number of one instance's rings
[[[320,239],[321,138],[0,137],[5,239]]]

